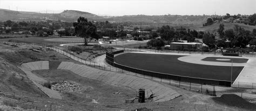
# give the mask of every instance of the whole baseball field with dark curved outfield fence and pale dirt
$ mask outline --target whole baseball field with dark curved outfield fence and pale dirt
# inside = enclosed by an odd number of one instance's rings
[[[252,88],[255,77],[246,71],[250,66],[247,61],[254,61],[254,59],[149,52],[120,53],[114,57],[115,66],[150,77],[220,86],[232,86],[231,84],[234,86],[238,82],[247,80],[249,84],[251,83],[248,87]],[[113,63],[110,64],[113,65]],[[252,80],[249,80],[251,78]],[[247,88],[247,86],[244,87]]]

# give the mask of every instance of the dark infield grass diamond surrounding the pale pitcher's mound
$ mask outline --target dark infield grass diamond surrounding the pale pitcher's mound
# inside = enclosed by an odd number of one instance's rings
[[[230,60],[217,60],[217,59],[230,59]],[[248,59],[244,58],[220,58],[220,57],[206,57],[202,59],[203,61],[218,61],[225,63],[247,63]]]

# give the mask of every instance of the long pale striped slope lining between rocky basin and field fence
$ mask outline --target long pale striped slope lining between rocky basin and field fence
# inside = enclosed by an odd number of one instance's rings
[[[180,96],[180,94],[166,85],[133,75],[98,70],[89,66],[64,61],[60,63],[57,69],[69,70],[85,78],[99,80],[113,85],[130,87],[136,91],[138,91],[139,88],[144,88],[145,92],[148,92],[149,95],[151,94],[151,91],[154,95],[158,95],[153,98],[153,101],[155,102],[169,101]]]

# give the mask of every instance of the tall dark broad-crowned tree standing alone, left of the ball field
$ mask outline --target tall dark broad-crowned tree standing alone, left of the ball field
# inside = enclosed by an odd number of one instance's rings
[[[96,33],[97,27],[92,22],[88,22],[87,18],[79,17],[77,22],[73,23],[75,33],[84,39],[84,45],[88,46],[88,39],[96,38],[99,36]]]

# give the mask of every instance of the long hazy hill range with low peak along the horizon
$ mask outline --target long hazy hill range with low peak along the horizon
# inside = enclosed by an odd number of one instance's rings
[[[179,15],[163,15],[163,16],[147,16],[147,15],[132,15],[132,16],[117,16],[117,17],[102,17],[89,12],[64,10],[61,13],[39,13],[39,12],[25,12],[0,9],[0,21],[6,20],[63,20],[66,22],[74,22],[78,17],[85,17],[89,20],[109,22],[144,22],[144,23],[167,23],[174,25],[195,25],[203,24],[210,16],[179,16]]]

